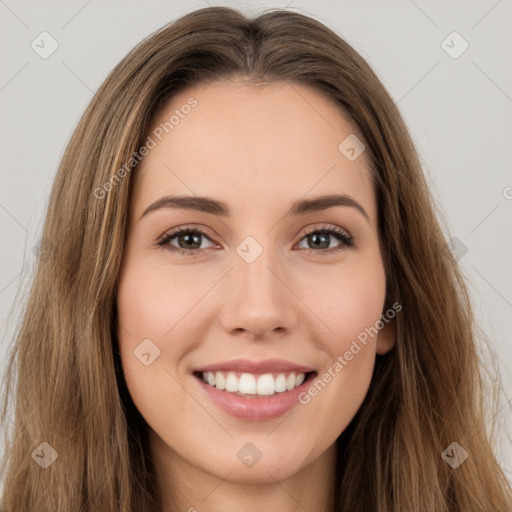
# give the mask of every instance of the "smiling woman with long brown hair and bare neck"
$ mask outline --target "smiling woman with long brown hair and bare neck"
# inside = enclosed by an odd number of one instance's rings
[[[145,39],[43,240],[5,512],[510,510],[414,145],[319,22],[215,7]]]

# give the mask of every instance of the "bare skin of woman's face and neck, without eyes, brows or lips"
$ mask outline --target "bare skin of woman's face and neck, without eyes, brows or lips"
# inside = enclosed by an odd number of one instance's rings
[[[197,106],[135,173],[117,296],[120,357],[149,426],[161,510],[330,510],[335,441],[368,391],[375,354],[394,344],[393,322],[307,405],[273,420],[220,410],[191,371],[235,358],[281,358],[322,375],[384,313],[365,153],[349,161],[338,150],[358,132],[309,86],[255,87],[242,79],[183,91],[155,127],[190,97]],[[350,206],[286,215],[292,201],[333,192],[354,198],[368,220]],[[141,218],[157,199],[178,194],[224,201],[232,213],[161,208]],[[207,232],[192,249],[200,256],[157,245],[181,226]],[[316,248],[305,230],[323,226],[342,228],[354,246],[331,235]],[[247,236],[263,249],[250,264],[236,252]],[[182,237],[168,245],[197,247]],[[147,338],[160,350],[149,366],[134,356]],[[247,442],[262,454],[252,467],[237,457]]]

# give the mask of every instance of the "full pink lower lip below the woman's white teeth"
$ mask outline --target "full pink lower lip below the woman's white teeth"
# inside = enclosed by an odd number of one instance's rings
[[[250,421],[263,421],[277,418],[299,403],[299,395],[311,385],[312,377],[315,374],[309,374],[308,378],[298,387],[274,393],[264,398],[250,398],[230,393],[229,391],[217,389],[204,382],[201,378],[194,376],[200,386],[208,394],[210,399],[223,411]]]

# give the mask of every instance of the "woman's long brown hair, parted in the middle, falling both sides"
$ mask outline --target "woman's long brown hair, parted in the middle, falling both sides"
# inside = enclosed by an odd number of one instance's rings
[[[486,431],[480,331],[395,103],[321,23],[223,7],[187,14],[138,44],[99,88],[63,155],[43,230],[49,249],[5,375],[2,510],[158,508],[145,423],[115,336],[134,155],[174,94],[233,76],[315,87],[357,126],[370,161],[385,309],[398,302],[403,310],[396,346],[377,356],[366,399],[337,440],[335,510],[509,511],[510,485]],[[441,456],[452,442],[469,454],[457,468]],[[46,469],[36,463],[55,453]]]

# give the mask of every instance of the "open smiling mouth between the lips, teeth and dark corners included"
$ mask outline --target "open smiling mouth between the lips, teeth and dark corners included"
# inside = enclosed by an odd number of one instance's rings
[[[244,398],[269,398],[309,383],[316,371],[249,373],[236,371],[194,371],[193,375],[219,391]]]

